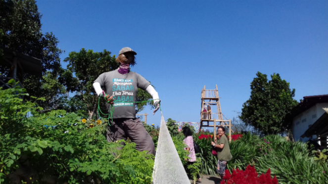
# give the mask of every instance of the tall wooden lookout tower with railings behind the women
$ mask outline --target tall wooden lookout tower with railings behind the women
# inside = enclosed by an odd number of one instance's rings
[[[229,140],[231,140],[231,132],[234,127],[231,124],[231,120],[223,120],[223,114],[221,111],[220,97],[218,92],[218,86],[215,85],[215,90],[206,90],[205,86],[201,92],[201,111],[200,111],[200,128],[213,127],[214,137],[216,137],[216,126],[223,126],[229,129]],[[206,112],[204,112],[204,105]],[[226,118],[227,119],[227,118]],[[210,125],[213,122],[213,125]]]

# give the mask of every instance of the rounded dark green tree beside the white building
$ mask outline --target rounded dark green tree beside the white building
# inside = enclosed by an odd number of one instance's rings
[[[286,116],[297,105],[293,99],[295,89],[290,90],[289,83],[281,80],[279,74],[271,75],[271,81],[260,72],[256,76],[250,85],[250,98],[242,105],[240,120],[265,135],[288,131],[289,119]]]

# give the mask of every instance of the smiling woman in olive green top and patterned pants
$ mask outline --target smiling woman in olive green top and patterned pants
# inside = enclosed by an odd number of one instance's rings
[[[230,152],[229,141],[225,133],[226,133],[226,129],[222,126],[219,126],[218,133],[217,133],[219,139],[215,140],[216,143],[211,142],[212,146],[216,148],[218,153],[217,171],[221,179],[223,178],[223,176],[225,176],[227,162],[233,158]]]

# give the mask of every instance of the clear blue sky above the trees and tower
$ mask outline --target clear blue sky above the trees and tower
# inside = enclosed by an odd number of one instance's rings
[[[223,114],[237,116],[256,73],[279,73],[295,99],[328,94],[327,0],[39,0],[42,31],[58,46],[131,47],[132,68],[155,86],[165,119],[199,122],[204,85],[218,85]],[[62,62],[64,68],[66,63]],[[152,114],[149,107],[141,113]],[[160,113],[147,117],[160,124]]]

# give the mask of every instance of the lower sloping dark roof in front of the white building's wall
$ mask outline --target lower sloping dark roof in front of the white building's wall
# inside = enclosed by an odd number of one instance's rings
[[[328,108],[323,108],[325,113],[301,136],[301,138],[310,137],[312,135],[328,134]]]

